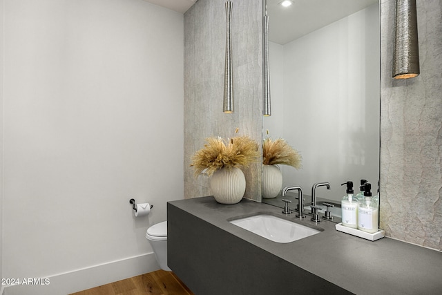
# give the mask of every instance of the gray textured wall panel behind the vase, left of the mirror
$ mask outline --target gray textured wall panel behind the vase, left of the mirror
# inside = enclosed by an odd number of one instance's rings
[[[204,138],[249,135],[262,140],[262,0],[233,1],[231,39],[234,113],[222,113],[226,14],[224,0],[199,0],[184,14],[184,198],[210,196],[195,178],[191,155]],[[261,146],[261,144],[260,144]],[[260,200],[261,163],[244,170],[245,198]]]

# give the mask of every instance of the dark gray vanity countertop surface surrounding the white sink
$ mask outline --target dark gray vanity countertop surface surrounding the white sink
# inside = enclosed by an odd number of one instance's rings
[[[278,243],[228,221],[256,213],[285,218],[278,207],[246,199],[238,204],[218,204],[211,196],[170,204],[355,294],[442,294],[439,251],[386,237],[372,242],[336,231],[334,222],[316,224],[309,217],[300,220],[294,213],[287,219],[324,231]]]

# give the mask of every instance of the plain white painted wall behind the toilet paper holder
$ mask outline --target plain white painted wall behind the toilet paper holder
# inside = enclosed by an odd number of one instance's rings
[[[183,15],[142,0],[3,13],[3,277],[151,254],[146,229],[183,198]]]

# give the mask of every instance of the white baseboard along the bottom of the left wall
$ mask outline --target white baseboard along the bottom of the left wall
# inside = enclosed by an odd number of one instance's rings
[[[0,295],[66,295],[160,269],[153,253],[49,276],[36,285],[12,285]],[[46,284],[48,282],[48,284]],[[46,285],[45,285],[46,284]],[[3,291],[3,293],[1,293]]]

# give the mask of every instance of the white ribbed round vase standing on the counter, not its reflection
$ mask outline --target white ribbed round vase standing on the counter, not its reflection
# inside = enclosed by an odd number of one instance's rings
[[[236,204],[240,202],[246,191],[246,178],[239,168],[222,168],[209,179],[210,188],[216,202]]]

